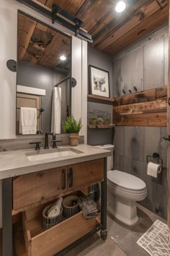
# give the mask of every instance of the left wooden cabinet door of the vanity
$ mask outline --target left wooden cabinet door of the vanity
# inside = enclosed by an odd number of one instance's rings
[[[67,190],[67,167],[18,176],[13,181],[13,209],[55,197]]]

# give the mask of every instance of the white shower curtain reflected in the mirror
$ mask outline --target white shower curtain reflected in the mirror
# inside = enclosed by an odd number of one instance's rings
[[[51,132],[61,133],[61,88],[53,89]]]

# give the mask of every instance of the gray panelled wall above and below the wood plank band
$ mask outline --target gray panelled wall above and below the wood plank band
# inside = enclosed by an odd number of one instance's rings
[[[133,51],[117,59],[113,66],[113,95],[128,93],[135,85],[139,90],[148,90],[166,85],[167,82],[167,33],[148,37],[144,45],[133,46]],[[151,40],[151,41],[150,41]],[[121,55],[121,54],[120,54]],[[166,127],[116,127],[115,169],[138,176],[146,182],[148,196],[140,202],[155,212],[158,204],[160,215],[167,218],[166,208],[166,153],[167,142],[163,139]],[[146,156],[159,153],[164,168],[158,179],[147,175]]]

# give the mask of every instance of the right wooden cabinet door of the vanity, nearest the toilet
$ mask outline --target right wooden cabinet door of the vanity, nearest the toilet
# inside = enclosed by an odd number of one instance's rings
[[[94,184],[104,178],[104,159],[68,166],[68,190]]]

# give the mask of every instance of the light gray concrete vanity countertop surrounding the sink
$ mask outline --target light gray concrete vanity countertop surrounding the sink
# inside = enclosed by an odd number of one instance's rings
[[[61,146],[61,148],[72,148],[69,146]],[[42,171],[45,169],[56,168],[61,166],[68,166],[73,163],[81,163],[84,161],[91,161],[98,158],[104,158],[111,155],[109,150],[92,147],[90,145],[80,144],[73,147],[82,153],[76,155],[69,155],[65,157],[50,158],[41,161],[29,161],[27,154],[37,154],[35,150],[14,150],[0,153],[0,179],[19,176],[22,174],[30,174],[35,171]],[[56,149],[51,149],[56,152]],[[39,153],[48,153],[48,150],[40,150]]]

